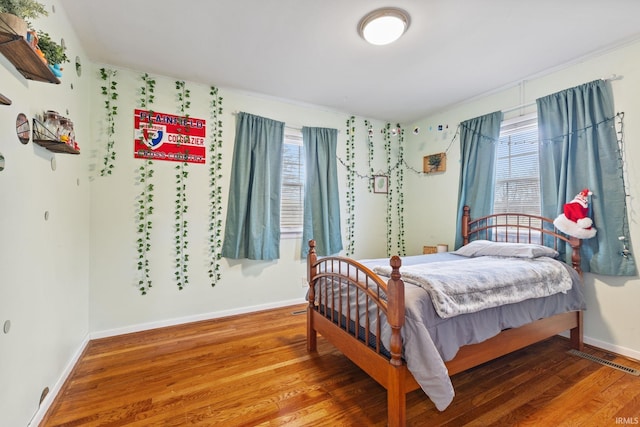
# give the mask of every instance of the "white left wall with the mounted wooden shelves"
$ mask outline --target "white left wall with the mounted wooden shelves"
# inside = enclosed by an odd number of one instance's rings
[[[38,28],[64,38],[67,54],[88,62],[63,11]],[[57,6],[57,5],[56,5]],[[34,22],[35,23],[35,22]],[[60,85],[26,80],[0,55],[0,425],[27,425],[45,387],[53,389],[88,333],[91,77],[72,63]],[[73,85],[73,89],[72,86]],[[56,110],[75,123],[82,154],[53,154],[22,145],[16,116]],[[56,170],[51,168],[56,161]],[[49,219],[45,220],[45,212]]]

